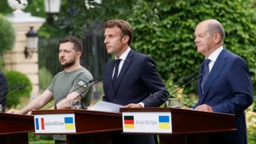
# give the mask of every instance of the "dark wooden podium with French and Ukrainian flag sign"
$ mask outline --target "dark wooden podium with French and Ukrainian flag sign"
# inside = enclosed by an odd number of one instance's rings
[[[82,109],[33,110],[35,134],[67,135],[67,143],[112,143],[122,132],[122,114]]]

